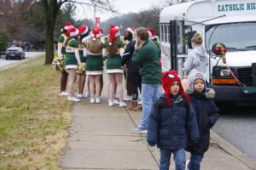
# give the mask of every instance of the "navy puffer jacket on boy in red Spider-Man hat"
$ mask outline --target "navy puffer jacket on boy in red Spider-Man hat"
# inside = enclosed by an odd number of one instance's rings
[[[166,94],[162,94],[152,107],[148,118],[148,144],[159,148],[179,150],[187,142],[197,142],[199,132],[195,111],[182,95],[172,99],[172,108],[167,104]]]

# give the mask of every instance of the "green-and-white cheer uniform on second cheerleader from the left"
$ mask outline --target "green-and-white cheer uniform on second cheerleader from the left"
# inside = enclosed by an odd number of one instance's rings
[[[75,56],[76,49],[79,49],[79,42],[77,42],[74,38],[71,38],[67,42],[67,47],[66,47],[65,65],[67,69],[77,68],[78,66],[78,61]]]

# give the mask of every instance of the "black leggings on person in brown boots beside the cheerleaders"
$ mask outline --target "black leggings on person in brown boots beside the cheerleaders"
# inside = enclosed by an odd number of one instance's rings
[[[137,100],[138,98],[138,91],[137,88],[140,89],[142,92],[142,77],[139,75],[138,72],[128,73],[128,80],[131,81],[132,88],[131,88],[131,98],[132,100]]]

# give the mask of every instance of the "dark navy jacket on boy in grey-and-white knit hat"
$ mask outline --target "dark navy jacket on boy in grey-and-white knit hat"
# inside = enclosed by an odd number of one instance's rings
[[[188,144],[187,150],[193,153],[204,153],[209,149],[210,128],[218,120],[218,108],[212,99],[205,94],[189,94],[195,109],[200,139],[197,145]]]

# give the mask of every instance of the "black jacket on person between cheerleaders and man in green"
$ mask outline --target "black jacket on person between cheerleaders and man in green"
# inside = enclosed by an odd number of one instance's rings
[[[132,64],[132,55],[134,52],[134,45],[136,41],[129,42],[125,48],[125,53],[122,56],[122,65],[127,66],[128,73],[139,72],[139,69],[136,65]]]

